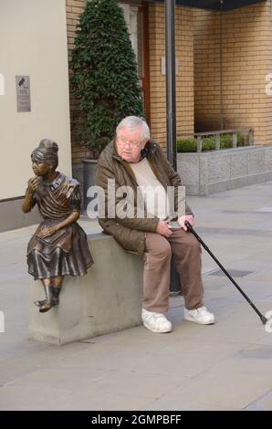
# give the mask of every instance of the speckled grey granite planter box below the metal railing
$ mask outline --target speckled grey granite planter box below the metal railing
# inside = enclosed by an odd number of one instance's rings
[[[272,145],[178,153],[177,171],[188,195],[209,195],[272,180]]]

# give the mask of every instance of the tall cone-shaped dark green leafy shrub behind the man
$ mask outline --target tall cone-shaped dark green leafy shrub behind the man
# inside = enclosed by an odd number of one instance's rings
[[[120,120],[143,115],[136,58],[117,0],[87,3],[70,68],[80,110],[80,144],[99,153],[114,137]]]

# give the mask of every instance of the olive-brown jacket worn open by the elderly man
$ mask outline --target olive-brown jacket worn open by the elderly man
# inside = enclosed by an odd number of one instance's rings
[[[148,141],[142,151],[142,156],[146,156],[152,171],[162,186],[174,187],[174,209],[178,207],[178,186],[182,186],[180,176],[173,170],[171,164],[163,155],[161,146],[155,141]],[[123,185],[130,186],[135,198],[132,202],[134,217],[114,218],[108,215],[108,180],[115,180],[116,190]],[[145,235],[147,232],[155,233],[159,222],[158,217],[147,217],[144,211],[142,218],[137,217],[137,182],[130,163],[123,161],[116,150],[115,142],[110,144],[101,152],[96,171],[96,184],[103,188],[105,193],[105,217],[99,215],[99,225],[103,232],[112,235],[120,246],[129,252],[143,254],[145,251]],[[115,206],[121,204],[127,194],[115,195]],[[190,207],[186,204],[186,214],[193,214]],[[181,214],[182,215],[182,214]]]

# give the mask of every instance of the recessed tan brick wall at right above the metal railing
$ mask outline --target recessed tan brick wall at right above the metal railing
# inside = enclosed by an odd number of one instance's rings
[[[272,142],[270,1],[224,13],[223,128],[253,127],[255,143]],[[197,131],[220,129],[220,14],[194,11],[194,119]]]

